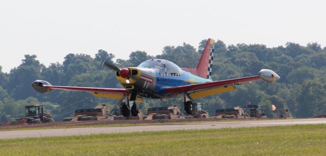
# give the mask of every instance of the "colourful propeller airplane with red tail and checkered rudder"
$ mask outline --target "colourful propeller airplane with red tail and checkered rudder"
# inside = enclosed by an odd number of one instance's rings
[[[208,39],[202,56],[196,68],[180,68],[171,61],[164,59],[150,59],[142,62],[138,67],[119,68],[111,60],[102,60],[101,65],[116,71],[116,77],[123,86],[119,88],[94,88],[52,86],[49,82],[36,80],[32,87],[40,93],[48,93],[53,90],[71,90],[91,92],[96,97],[119,99],[122,103],[122,115],[137,116],[139,111],[136,101],[142,101],[142,97],[150,99],[162,99],[183,97],[184,110],[191,114],[193,101],[214,94],[220,94],[236,89],[236,86],[263,80],[274,83],[280,80],[280,76],[269,69],[262,69],[258,75],[241,77],[237,79],[212,81],[212,62],[214,58],[213,39]],[[130,109],[129,101],[133,101]]]

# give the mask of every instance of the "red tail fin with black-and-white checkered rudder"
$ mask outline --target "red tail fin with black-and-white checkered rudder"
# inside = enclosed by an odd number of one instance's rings
[[[182,70],[211,80],[214,58],[214,43],[215,41],[213,39],[209,38],[207,40],[202,57],[200,58],[196,69],[182,68]]]

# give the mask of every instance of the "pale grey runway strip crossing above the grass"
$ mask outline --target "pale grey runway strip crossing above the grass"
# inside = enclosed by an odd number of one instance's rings
[[[281,126],[281,125],[295,125],[295,124],[325,124],[325,123],[326,123],[326,118],[320,118],[320,119],[287,119],[287,120],[260,120],[260,121],[234,121],[234,122],[203,122],[203,123],[184,123],[184,124],[176,123],[176,124],[164,124],[164,125],[123,126],[123,127],[39,129],[39,130],[29,130],[29,131],[0,132],[0,139],[113,134],[113,133],[149,132],[149,131],[172,131],[172,130],[187,130],[187,129]]]

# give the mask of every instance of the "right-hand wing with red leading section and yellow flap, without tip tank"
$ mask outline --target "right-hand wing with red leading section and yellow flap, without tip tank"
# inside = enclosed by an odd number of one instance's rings
[[[165,88],[165,91],[170,94],[186,93],[191,98],[196,99],[196,98],[232,91],[235,89],[236,85],[241,85],[243,83],[250,83],[257,80],[261,80],[261,77],[259,75],[251,76],[251,77],[242,77],[242,78],[231,79],[231,80],[207,82],[202,84],[168,87]]]

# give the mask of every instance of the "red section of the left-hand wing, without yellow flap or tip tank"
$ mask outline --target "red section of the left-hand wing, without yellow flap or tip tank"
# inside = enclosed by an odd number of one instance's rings
[[[129,94],[129,92],[126,89],[118,89],[118,88],[69,87],[69,86],[49,86],[49,85],[44,85],[43,87],[49,89],[61,89],[61,90],[72,90],[72,91],[94,92],[94,93],[123,94],[123,95]]]

